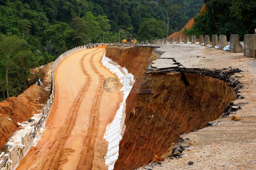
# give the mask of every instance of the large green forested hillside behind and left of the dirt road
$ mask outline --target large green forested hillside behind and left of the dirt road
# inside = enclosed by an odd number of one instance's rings
[[[31,84],[31,68],[66,50],[121,42],[131,33],[138,40],[164,38],[202,5],[203,0],[0,0],[0,100],[22,93]]]

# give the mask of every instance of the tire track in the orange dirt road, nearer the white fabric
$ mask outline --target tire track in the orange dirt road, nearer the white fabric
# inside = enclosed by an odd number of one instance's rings
[[[99,124],[99,108],[101,104],[101,98],[103,93],[102,83],[105,77],[100,74],[96,66],[93,63],[94,56],[90,57],[90,65],[92,70],[99,76],[99,84],[97,86],[98,93],[95,94],[92,102],[92,108],[90,111],[90,120],[88,125],[87,135],[85,136],[82,151],[80,154],[80,160],[77,166],[77,170],[92,170],[94,160],[94,145],[97,137],[97,130]]]

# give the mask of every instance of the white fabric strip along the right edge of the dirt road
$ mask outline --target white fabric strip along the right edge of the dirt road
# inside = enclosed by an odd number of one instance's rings
[[[104,139],[108,141],[108,152],[105,156],[105,164],[108,165],[108,170],[113,170],[114,164],[116,160],[118,160],[119,142],[123,137],[126,127],[124,124],[126,106],[125,100],[133,87],[132,85],[129,85],[129,83],[134,81],[134,76],[128,73],[126,68],[121,67],[106,57],[105,54],[102,58],[102,64],[110,69],[111,72],[115,73],[118,76],[119,81],[123,84],[123,87],[121,88],[121,91],[123,91],[123,102],[120,104],[113,122],[107,125],[106,132],[104,134]]]

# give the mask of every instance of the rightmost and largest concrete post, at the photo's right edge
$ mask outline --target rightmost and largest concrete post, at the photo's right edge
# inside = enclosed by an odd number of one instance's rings
[[[246,34],[244,37],[244,55],[255,57],[256,37],[254,34]]]

